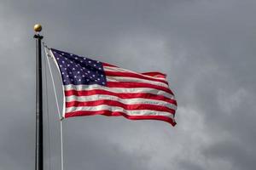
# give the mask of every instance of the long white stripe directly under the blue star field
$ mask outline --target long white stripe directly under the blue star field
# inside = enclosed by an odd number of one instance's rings
[[[154,89],[154,88],[108,88],[105,86],[101,86],[98,84],[91,84],[91,85],[73,85],[68,84],[64,86],[65,90],[95,90],[101,89],[106,90],[108,92],[113,92],[117,94],[139,94],[139,93],[147,93],[147,94],[156,94],[156,95],[163,95],[169,99],[175,99],[172,94],[166,93],[165,91]]]

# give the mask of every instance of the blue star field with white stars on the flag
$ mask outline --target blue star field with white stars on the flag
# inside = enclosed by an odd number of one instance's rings
[[[102,62],[51,48],[64,85],[107,85]]]

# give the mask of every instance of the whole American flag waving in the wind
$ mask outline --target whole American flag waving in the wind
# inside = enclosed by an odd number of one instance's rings
[[[54,48],[50,48],[50,54],[62,77],[63,118],[125,116],[176,124],[177,101],[165,74],[128,71]]]

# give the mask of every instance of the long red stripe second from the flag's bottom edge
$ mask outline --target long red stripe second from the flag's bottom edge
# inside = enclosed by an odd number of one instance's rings
[[[175,110],[170,109],[165,106],[161,105],[149,105],[149,104],[136,104],[136,105],[126,105],[119,101],[110,100],[110,99],[100,99],[96,101],[86,101],[86,102],[79,102],[79,101],[71,101],[66,102],[66,108],[68,107],[83,107],[83,106],[97,106],[97,105],[109,105],[121,107],[127,111],[135,111],[135,110],[150,110],[150,111],[166,111],[172,114],[175,114]]]

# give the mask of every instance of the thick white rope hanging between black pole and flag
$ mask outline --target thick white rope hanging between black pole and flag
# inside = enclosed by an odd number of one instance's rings
[[[63,156],[63,124],[62,124],[62,117],[61,117],[61,111],[60,111],[60,107],[59,107],[59,104],[58,104],[58,98],[57,98],[57,94],[56,94],[56,90],[55,90],[55,81],[54,81],[54,77],[53,77],[53,74],[52,74],[52,71],[51,71],[51,66],[49,64],[49,58],[51,55],[48,54],[47,52],[47,49],[49,50],[49,48],[46,46],[45,42],[43,42],[44,44],[44,52],[46,54],[46,59],[47,59],[47,62],[48,62],[48,66],[49,66],[49,74],[50,74],[50,77],[51,77],[51,80],[52,80],[52,85],[53,85],[53,88],[54,88],[54,92],[55,92],[55,103],[56,103],[56,106],[57,106],[57,111],[58,111],[58,115],[59,115],[59,118],[60,118],[60,128],[61,128],[61,170],[64,170],[64,156]]]

